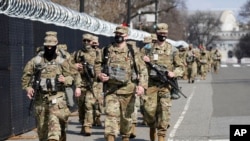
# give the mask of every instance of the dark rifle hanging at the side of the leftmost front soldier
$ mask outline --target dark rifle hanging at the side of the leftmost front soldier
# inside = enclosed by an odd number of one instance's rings
[[[31,111],[33,110],[36,95],[39,93],[39,90],[40,90],[41,71],[42,69],[40,67],[36,68],[32,76],[32,81],[33,81],[32,88],[34,89],[34,95],[32,96],[32,99],[30,100],[30,104],[29,104],[29,116],[31,115]]]

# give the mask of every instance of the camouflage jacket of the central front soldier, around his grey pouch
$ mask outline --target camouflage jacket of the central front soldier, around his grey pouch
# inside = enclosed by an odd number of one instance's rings
[[[128,46],[124,48],[118,48],[115,44],[110,45],[107,48],[107,66],[112,67],[119,67],[122,70],[125,70],[124,72],[127,74],[128,81],[126,84],[124,84],[120,89],[116,91],[117,94],[131,94],[134,93],[135,85],[140,85],[147,89],[148,87],[148,72],[146,65],[144,61],[141,59],[140,52],[138,48],[135,46],[132,46],[134,51],[134,60],[133,55],[130,53]],[[102,50],[102,57],[99,57],[99,59],[96,61],[95,64],[95,72],[96,74],[99,74],[103,70],[103,63],[104,63],[104,49]],[[134,61],[136,64],[134,64]],[[138,70],[138,76],[137,76],[137,82],[133,81],[133,73],[134,65],[136,65],[136,68]],[[116,84],[112,83],[111,77],[108,80],[108,88],[113,89],[114,87],[117,87]],[[136,84],[137,83],[137,84]]]

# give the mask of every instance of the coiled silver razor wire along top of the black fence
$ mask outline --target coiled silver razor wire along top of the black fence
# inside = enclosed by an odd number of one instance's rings
[[[80,13],[50,0],[0,0],[0,14],[40,21],[94,34],[112,36],[118,26],[86,13]],[[129,39],[143,40],[150,34],[129,28]]]

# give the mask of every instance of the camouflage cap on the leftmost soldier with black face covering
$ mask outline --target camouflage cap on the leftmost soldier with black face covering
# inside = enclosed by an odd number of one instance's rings
[[[57,32],[47,31],[44,38],[44,46],[56,46],[58,44]]]

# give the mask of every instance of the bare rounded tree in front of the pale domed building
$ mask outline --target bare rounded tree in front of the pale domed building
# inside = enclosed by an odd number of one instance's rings
[[[195,12],[188,18],[188,41],[196,46],[210,46],[219,38],[216,32],[220,24],[218,17],[211,12]]]

